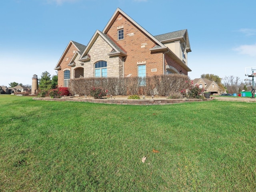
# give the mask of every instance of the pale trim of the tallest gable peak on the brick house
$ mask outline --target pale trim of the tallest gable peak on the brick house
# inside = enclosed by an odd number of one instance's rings
[[[135,22],[132,18],[130,18],[125,12],[123,12],[120,8],[117,8],[110,20],[108,21],[107,25],[103,29],[103,33],[107,34],[108,30],[112,26],[112,24],[115,22],[116,18],[118,17],[119,14],[122,14],[124,17],[126,17],[132,24],[134,24],[136,27],[138,27],[142,32],[144,32],[146,35],[148,35],[149,38],[151,38],[158,46],[162,48],[166,48],[164,44],[162,44],[158,39],[156,39],[154,36],[152,36],[147,30],[145,30],[142,26],[140,26],[137,22]]]

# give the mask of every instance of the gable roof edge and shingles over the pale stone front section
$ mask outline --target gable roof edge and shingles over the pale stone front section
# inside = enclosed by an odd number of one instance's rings
[[[101,32],[99,30],[96,30],[96,32],[92,36],[90,42],[88,43],[88,45],[84,49],[84,52],[81,54],[79,60],[83,61],[83,60],[90,59],[87,56],[87,54],[88,54],[90,48],[92,48],[92,46],[93,46],[94,42],[96,41],[96,39],[98,38],[98,36],[102,37],[112,47],[113,50],[112,50],[112,52],[108,53],[108,55],[111,55],[111,56],[114,56],[114,55],[126,56],[126,52],[124,50],[122,50],[122,48],[120,48],[109,36],[107,36],[106,34],[104,34],[103,32]]]

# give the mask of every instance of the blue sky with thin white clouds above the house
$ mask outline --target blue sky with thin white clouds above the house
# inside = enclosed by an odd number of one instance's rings
[[[256,66],[254,0],[4,0],[0,6],[0,85],[56,74],[70,40],[87,45],[119,7],[152,35],[188,30],[191,79],[247,78]]]

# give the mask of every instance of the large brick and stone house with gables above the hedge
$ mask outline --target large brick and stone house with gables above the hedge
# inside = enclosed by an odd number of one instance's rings
[[[70,41],[55,69],[58,86],[72,78],[188,75],[188,31],[152,36],[119,8],[87,46]]]

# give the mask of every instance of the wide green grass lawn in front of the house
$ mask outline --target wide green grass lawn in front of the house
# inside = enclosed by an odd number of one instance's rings
[[[0,107],[0,191],[256,190],[255,103]]]

